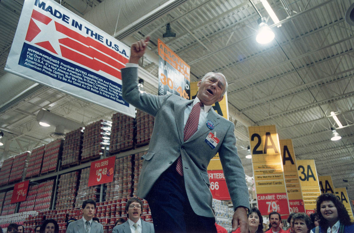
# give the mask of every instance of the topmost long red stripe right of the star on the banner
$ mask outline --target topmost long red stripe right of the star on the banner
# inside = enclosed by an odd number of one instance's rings
[[[115,52],[114,50],[105,47],[104,45],[102,45],[101,43],[93,40],[90,37],[84,37],[82,35],[80,35],[79,33],[77,33],[76,31],[73,31],[67,27],[65,27],[64,25],[55,22],[55,27],[57,29],[57,31],[75,39],[80,41],[81,43],[84,43],[87,46],[92,46],[94,48],[97,48],[99,51],[108,54],[109,56],[113,57],[114,59],[119,60],[120,62],[122,62],[123,64],[129,62],[129,59],[127,59],[126,57],[120,55],[118,52]]]

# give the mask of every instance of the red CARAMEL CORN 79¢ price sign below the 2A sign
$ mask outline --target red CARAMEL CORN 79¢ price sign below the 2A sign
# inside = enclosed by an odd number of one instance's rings
[[[289,215],[289,205],[286,193],[257,194],[258,209],[262,214],[268,215],[276,211],[281,215]]]

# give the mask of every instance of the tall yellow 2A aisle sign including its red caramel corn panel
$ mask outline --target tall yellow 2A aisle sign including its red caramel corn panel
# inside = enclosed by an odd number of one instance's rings
[[[249,134],[258,209],[263,215],[277,211],[286,218],[289,202],[275,126],[251,126]]]

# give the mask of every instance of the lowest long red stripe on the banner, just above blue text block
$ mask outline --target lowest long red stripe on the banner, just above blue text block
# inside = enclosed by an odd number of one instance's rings
[[[113,69],[112,67],[103,64],[102,62],[99,62],[98,60],[90,59],[80,53],[77,53],[75,51],[72,51],[68,48],[65,48],[64,46],[60,46],[62,56],[65,58],[68,58],[74,62],[77,62],[79,64],[82,64],[84,66],[87,66],[93,70],[102,70],[106,72],[107,74],[110,74],[116,78],[122,79],[121,78],[121,73],[118,70]]]

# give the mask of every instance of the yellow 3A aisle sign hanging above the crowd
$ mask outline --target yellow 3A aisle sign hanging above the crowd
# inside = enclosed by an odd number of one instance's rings
[[[306,214],[310,215],[315,212],[316,198],[321,194],[315,160],[300,159],[296,164]]]

